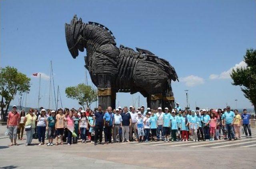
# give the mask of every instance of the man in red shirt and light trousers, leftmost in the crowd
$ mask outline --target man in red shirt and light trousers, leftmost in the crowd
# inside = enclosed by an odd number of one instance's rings
[[[18,143],[16,143],[16,140],[17,140],[17,129],[20,124],[20,113],[18,113],[16,110],[17,110],[17,106],[12,106],[12,112],[9,112],[8,119],[7,119],[7,128],[8,128],[8,132],[11,140],[11,143],[9,144],[9,146],[19,145]]]

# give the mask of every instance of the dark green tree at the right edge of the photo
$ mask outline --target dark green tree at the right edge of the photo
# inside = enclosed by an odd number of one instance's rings
[[[256,50],[247,49],[244,55],[244,62],[247,67],[239,67],[230,73],[233,79],[232,85],[241,86],[244,96],[252,102],[256,112]]]

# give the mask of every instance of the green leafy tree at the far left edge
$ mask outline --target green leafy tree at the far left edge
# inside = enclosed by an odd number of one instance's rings
[[[23,73],[20,73],[14,67],[0,68],[0,94],[1,94],[1,112],[2,117],[7,116],[10,102],[14,99],[14,96],[18,93],[24,93],[30,91],[30,78]],[[4,107],[6,111],[4,112]],[[6,120],[2,118],[2,120]]]

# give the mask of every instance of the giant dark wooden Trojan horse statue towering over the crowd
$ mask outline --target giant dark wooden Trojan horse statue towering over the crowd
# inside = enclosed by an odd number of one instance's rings
[[[83,23],[74,16],[65,24],[68,50],[75,59],[86,49],[85,67],[98,87],[99,105],[116,107],[116,92],[140,92],[150,108],[174,108],[171,81],[178,80],[168,61],[152,52],[116,47],[112,32],[96,22]]]

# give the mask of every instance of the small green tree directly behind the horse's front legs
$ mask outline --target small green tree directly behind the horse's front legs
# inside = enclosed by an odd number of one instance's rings
[[[78,103],[89,107],[92,102],[97,101],[97,92],[91,86],[80,83],[77,86],[66,87],[65,93],[68,98],[78,100]]]

